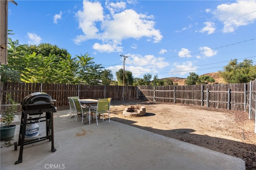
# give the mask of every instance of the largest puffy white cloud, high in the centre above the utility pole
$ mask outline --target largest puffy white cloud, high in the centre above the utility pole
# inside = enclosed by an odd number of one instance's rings
[[[124,10],[115,14],[112,20],[102,23],[102,34],[104,39],[122,39],[141,37],[153,38],[154,42],[159,42],[162,35],[159,30],[154,29],[155,22],[150,20],[152,16],[138,14],[134,10]]]

